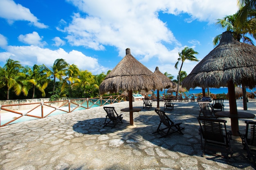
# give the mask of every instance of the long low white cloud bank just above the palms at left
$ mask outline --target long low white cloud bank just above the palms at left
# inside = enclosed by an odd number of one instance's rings
[[[5,62],[8,58],[19,61],[22,66],[45,64],[48,68],[58,58],[63,58],[68,64],[75,64],[79,69],[88,70],[94,74],[107,72],[108,69],[100,66],[98,60],[88,57],[80,51],[66,52],[64,49],[50,50],[38,46],[8,46],[7,52],[0,53],[0,59]]]

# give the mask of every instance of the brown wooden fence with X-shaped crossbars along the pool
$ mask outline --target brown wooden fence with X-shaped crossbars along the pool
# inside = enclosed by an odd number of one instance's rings
[[[19,121],[45,118],[49,115],[71,113],[74,110],[126,101],[125,95],[68,99],[54,102],[0,105],[0,127]],[[29,108],[29,109],[26,109]]]

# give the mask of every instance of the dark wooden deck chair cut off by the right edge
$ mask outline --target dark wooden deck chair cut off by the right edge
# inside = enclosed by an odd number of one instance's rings
[[[244,150],[247,150],[248,159],[254,161],[256,166],[256,121],[245,121],[246,130],[245,134],[238,132],[242,139]]]

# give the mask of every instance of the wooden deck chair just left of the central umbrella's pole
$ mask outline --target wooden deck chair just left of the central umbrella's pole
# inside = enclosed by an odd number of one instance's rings
[[[119,122],[123,123],[122,122],[123,117],[121,117],[122,114],[118,115],[116,110],[115,110],[115,107],[103,107],[103,108],[107,113],[103,127],[105,127],[111,121],[113,123],[112,128],[114,128]],[[107,122],[107,119],[110,119],[110,120]]]

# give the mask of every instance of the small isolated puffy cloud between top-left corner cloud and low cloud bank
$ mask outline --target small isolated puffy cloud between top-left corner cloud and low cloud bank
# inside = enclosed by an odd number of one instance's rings
[[[41,41],[43,39],[43,36],[39,36],[37,32],[28,33],[26,35],[19,35],[18,40],[20,42],[24,42],[29,45],[36,45],[36,46],[44,46],[47,43],[45,41]]]

